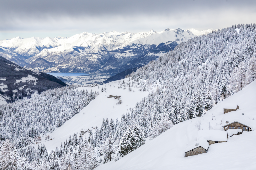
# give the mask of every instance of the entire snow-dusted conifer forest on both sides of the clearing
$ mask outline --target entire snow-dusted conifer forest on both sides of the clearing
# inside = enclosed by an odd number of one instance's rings
[[[238,24],[180,43],[131,73],[149,95],[120,120],[105,118],[87,138],[73,134],[50,154],[31,142],[52,132],[97,96],[75,86],[0,106],[1,169],[93,169],[118,161],[173,125],[200,117],[256,79],[256,24]],[[49,140],[49,139],[48,139]]]

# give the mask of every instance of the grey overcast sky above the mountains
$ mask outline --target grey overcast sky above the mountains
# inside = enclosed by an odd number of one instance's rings
[[[207,30],[256,22],[256,0],[0,0],[0,4],[0,40],[112,30]]]

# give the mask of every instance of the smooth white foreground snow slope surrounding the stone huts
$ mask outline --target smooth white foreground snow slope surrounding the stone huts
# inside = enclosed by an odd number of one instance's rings
[[[256,81],[218,103],[204,116],[174,125],[120,160],[100,165],[95,170],[253,170],[256,167],[255,101]],[[237,111],[223,114],[223,108],[236,108],[237,105],[240,107]],[[212,144],[207,153],[184,157],[187,144],[197,140],[195,125],[198,121],[204,130],[223,130],[226,120],[247,121],[252,132],[244,131],[241,135],[228,137],[226,143]]]

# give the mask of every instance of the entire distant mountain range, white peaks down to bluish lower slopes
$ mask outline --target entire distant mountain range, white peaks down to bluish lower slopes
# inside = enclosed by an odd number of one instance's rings
[[[161,32],[83,32],[69,38],[16,37],[0,41],[0,55],[37,72],[96,72],[115,75],[147,64],[174,49],[180,42],[211,31],[213,29],[198,31],[168,28]],[[38,58],[46,61],[42,62]],[[49,67],[47,61],[53,62],[52,67]]]

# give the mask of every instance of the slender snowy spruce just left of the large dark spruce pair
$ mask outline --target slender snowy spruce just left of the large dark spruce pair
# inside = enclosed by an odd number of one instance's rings
[[[109,133],[108,138],[102,145],[102,154],[104,155],[103,163],[107,163],[108,161],[112,161],[115,157],[115,147],[114,147],[114,139],[112,132]]]

